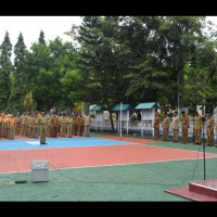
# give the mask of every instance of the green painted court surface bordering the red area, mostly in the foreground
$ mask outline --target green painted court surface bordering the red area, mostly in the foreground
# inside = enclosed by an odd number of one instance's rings
[[[161,141],[149,145],[203,151],[202,145],[192,143]],[[217,153],[217,149],[206,146],[206,152]],[[204,178],[203,158],[71,169],[49,167],[48,182],[33,183],[30,171],[1,174],[0,201],[189,202],[164,191]],[[206,158],[206,179],[217,179],[216,167],[217,157]],[[24,179],[26,183],[14,183]]]

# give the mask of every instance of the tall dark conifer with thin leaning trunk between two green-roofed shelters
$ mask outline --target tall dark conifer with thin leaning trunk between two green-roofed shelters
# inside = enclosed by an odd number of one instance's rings
[[[117,16],[85,16],[81,26],[73,29],[80,43],[78,72],[86,85],[85,102],[106,105],[114,131],[112,108],[125,101],[127,84],[124,81]]]

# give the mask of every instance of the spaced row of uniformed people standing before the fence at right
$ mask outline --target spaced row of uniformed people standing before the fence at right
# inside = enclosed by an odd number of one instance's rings
[[[189,135],[189,128],[190,128],[190,116],[188,116],[184,111],[181,112],[181,115],[182,115],[182,125],[181,125],[182,143],[188,143],[189,142],[188,135]],[[200,115],[197,111],[194,112],[193,136],[194,136],[195,144],[202,143],[203,118],[204,118],[204,115]],[[155,118],[154,118],[154,138],[156,140],[159,139],[159,123],[161,123],[161,118],[159,118],[158,112],[156,112]],[[173,117],[171,122],[170,122],[170,118],[168,117],[168,114],[165,112],[162,127],[163,127],[163,140],[164,141],[168,141],[169,127],[173,130],[174,142],[179,141],[180,119],[177,115],[177,112],[174,113],[174,117]],[[208,114],[207,120],[206,120],[206,137],[207,137],[206,145],[217,146],[216,144],[214,144],[214,127],[215,127],[215,120],[213,118],[213,115]],[[216,126],[216,131],[217,131],[217,126]]]

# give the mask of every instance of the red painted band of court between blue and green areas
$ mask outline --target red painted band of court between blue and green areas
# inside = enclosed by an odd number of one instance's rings
[[[102,137],[101,137],[102,138]],[[106,137],[102,139],[116,139]],[[30,171],[31,161],[49,161],[49,169],[154,163],[202,158],[203,153],[151,146],[149,140],[122,138],[135,144],[0,151],[0,173]],[[206,157],[217,157],[206,154]]]

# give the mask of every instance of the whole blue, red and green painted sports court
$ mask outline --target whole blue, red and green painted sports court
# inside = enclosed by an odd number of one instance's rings
[[[203,180],[202,146],[91,133],[0,140],[0,201],[188,201],[164,192]],[[31,182],[31,161],[49,161],[49,181]],[[216,179],[217,149],[206,150]],[[26,183],[14,183],[15,180]]]

